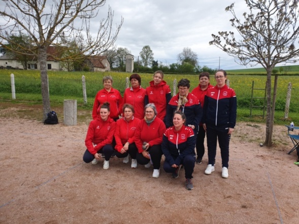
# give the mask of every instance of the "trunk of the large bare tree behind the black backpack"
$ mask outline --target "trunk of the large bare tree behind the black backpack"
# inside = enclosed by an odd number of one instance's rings
[[[47,73],[47,48],[42,46],[39,48],[38,61],[41,71],[41,89],[43,98],[43,121],[46,120],[47,114],[51,111],[49,96],[49,80]]]

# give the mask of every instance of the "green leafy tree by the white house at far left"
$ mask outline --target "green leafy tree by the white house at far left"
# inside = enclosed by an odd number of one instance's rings
[[[19,33],[19,35],[12,34],[8,36],[7,49],[13,48],[15,51],[7,50],[7,55],[19,61],[25,70],[27,70],[28,61],[32,59],[32,57],[26,54],[26,49],[31,49],[32,47],[28,35]]]

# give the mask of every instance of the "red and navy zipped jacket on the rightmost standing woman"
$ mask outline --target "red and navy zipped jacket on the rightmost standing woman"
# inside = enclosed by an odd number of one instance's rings
[[[224,85],[208,89],[203,109],[204,124],[234,128],[237,118],[237,97],[235,90]]]

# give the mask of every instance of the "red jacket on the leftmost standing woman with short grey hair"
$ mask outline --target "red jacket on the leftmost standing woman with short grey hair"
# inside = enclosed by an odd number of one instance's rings
[[[92,108],[93,120],[98,116],[98,107],[105,102],[110,103],[110,118],[116,119],[121,115],[122,97],[118,90],[111,88],[110,92],[102,89],[97,92]]]

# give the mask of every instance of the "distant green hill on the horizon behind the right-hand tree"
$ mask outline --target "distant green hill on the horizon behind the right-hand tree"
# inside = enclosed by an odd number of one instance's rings
[[[274,69],[277,71],[276,74],[299,74],[299,65],[277,66]],[[226,70],[226,72],[230,74],[266,74],[264,68],[234,69]]]

